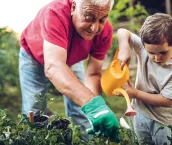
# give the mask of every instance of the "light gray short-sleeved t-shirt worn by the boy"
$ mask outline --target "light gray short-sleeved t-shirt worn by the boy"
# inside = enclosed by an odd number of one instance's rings
[[[136,88],[172,99],[172,60],[164,66],[159,66],[149,59],[140,37],[132,34],[131,43],[138,60]],[[162,124],[172,125],[172,107],[157,107],[138,99],[133,99],[132,105],[137,113],[141,113]]]

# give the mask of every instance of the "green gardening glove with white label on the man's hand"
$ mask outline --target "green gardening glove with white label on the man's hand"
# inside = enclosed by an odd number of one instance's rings
[[[82,111],[93,125],[93,132],[100,132],[113,142],[119,142],[118,119],[101,96],[82,106]]]

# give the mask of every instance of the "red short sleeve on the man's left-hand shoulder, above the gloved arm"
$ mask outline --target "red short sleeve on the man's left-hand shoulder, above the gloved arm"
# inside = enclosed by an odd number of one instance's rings
[[[46,41],[67,49],[68,29],[62,20],[63,18],[55,11],[48,10],[40,22],[41,34]]]

